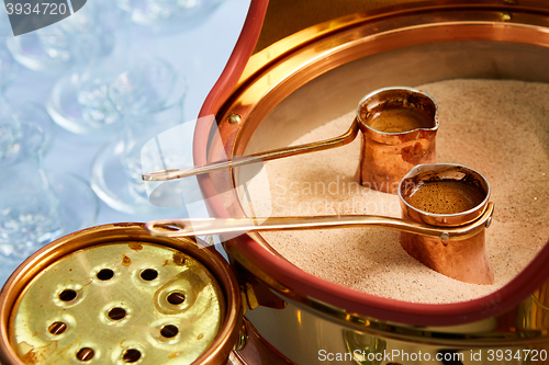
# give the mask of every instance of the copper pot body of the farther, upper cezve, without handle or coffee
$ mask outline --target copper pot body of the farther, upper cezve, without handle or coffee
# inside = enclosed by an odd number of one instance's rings
[[[374,124],[377,116],[395,110],[417,114],[425,126],[393,132],[400,128],[382,129]],[[438,106],[426,93],[412,88],[377,90],[360,101],[357,121],[362,132],[357,172],[362,186],[397,194],[399,183],[410,169],[436,162]]]

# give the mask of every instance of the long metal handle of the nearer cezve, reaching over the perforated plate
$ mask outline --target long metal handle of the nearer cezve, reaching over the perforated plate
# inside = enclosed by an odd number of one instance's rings
[[[229,232],[266,230],[299,230],[344,227],[381,227],[421,236],[457,241],[473,237],[490,226],[494,204],[489,203],[484,213],[473,223],[461,227],[434,227],[399,218],[345,215],[317,217],[271,217],[271,218],[204,218],[152,220],[145,228],[155,236],[188,237]]]

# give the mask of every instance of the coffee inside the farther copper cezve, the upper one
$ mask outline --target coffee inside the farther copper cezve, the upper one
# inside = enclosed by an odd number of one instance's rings
[[[433,118],[413,109],[386,109],[374,113],[367,122],[371,128],[384,133],[402,133],[417,128],[433,128]]]

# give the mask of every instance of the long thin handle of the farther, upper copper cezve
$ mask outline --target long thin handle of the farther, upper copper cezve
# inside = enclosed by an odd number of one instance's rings
[[[323,151],[326,149],[336,148],[350,144],[357,137],[358,130],[359,130],[358,122],[357,119],[355,119],[350,128],[339,137],[299,145],[299,146],[273,149],[270,151],[249,155],[249,156],[234,157],[231,161],[217,161],[194,168],[152,171],[148,173],[144,173],[143,180],[144,181],[175,180],[180,178],[199,175],[202,173],[209,173],[217,170],[236,168],[250,163],[257,163],[258,161],[269,161],[269,160],[280,159],[283,157]]]

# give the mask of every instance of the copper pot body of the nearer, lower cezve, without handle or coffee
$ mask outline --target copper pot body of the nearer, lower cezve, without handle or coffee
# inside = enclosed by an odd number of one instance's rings
[[[482,190],[484,198],[472,209],[455,214],[427,213],[408,203],[408,196],[414,190],[421,189],[418,186],[422,183],[440,180],[471,181]],[[467,225],[484,214],[490,199],[490,185],[480,173],[462,166],[422,164],[404,176],[399,195],[404,219],[439,227],[456,227]],[[494,283],[494,271],[486,253],[484,229],[455,242],[402,232],[401,244],[411,256],[444,275],[471,284]]]

